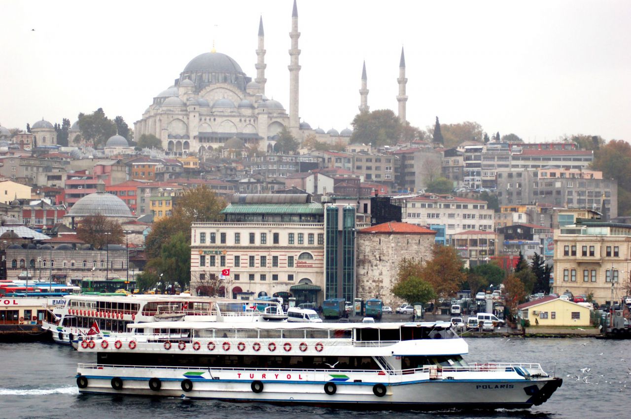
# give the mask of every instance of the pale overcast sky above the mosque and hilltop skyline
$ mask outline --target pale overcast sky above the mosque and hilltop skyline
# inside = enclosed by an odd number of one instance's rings
[[[1,0],[0,124],[102,107],[129,126],[193,57],[216,50],[289,108],[292,0]],[[298,0],[300,117],[351,127],[362,61],[370,110],[397,112],[401,46],[414,126],[476,121],[526,141],[631,139],[631,2]],[[33,31],[34,29],[34,31]]]

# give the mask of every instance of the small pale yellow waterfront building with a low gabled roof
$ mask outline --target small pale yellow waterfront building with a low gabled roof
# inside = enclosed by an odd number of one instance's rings
[[[555,296],[517,306],[517,316],[530,326],[589,326],[589,307]]]

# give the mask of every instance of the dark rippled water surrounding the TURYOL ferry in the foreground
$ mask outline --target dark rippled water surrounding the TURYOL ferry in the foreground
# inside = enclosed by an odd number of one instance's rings
[[[218,401],[80,395],[74,374],[94,356],[45,343],[0,344],[1,418],[623,418],[631,412],[631,341],[468,339],[468,362],[538,362],[563,386],[530,410],[374,412]],[[627,359],[628,358],[628,359]],[[589,368],[589,372],[581,369]],[[577,376],[579,379],[577,379]],[[586,382],[584,377],[587,376]]]

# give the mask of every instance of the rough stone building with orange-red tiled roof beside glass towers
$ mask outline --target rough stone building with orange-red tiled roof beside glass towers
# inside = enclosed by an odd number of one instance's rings
[[[408,223],[390,221],[362,228],[357,235],[357,297],[379,297],[390,307],[401,303],[392,294],[399,263],[404,259],[425,262],[432,258],[436,232]]]

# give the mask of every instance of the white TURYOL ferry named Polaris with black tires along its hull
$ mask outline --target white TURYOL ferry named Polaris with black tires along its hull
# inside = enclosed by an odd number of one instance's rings
[[[88,336],[81,393],[376,410],[529,408],[561,386],[538,363],[468,364],[449,322],[155,322]]]

